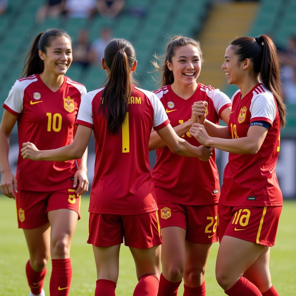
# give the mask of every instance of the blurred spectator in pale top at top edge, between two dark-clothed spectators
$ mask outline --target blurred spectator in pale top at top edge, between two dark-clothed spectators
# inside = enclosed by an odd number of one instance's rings
[[[68,17],[91,18],[96,13],[96,0],[66,0],[65,13]]]

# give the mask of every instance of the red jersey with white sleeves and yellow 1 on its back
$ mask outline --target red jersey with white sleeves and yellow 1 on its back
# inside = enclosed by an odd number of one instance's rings
[[[133,86],[126,120],[119,135],[114,135],[99,110],[103,91],[85,95],[76,121],[94,130],[96,159],[89,212],[131,215],[155,211],[148,144],[152,127],[165,127],[168,116],[155,94]]]

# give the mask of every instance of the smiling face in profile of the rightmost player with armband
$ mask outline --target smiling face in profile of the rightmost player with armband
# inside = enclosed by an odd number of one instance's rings
[[[239,62],[234,54],[233,45],[229,45],[225,51],[225,62],[221,66],[224,70],[228,84],[238,84],[243,78],[243,63]]]

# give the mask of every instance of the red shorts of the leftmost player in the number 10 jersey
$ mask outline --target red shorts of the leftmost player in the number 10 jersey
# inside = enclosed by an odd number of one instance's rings
[[[33,229],[48,223],[47,212],[70,209],[80,219],[81,197],[76,189],[61,189],[52,192],[18,190],[16,193],[17,221],[19,228]]]

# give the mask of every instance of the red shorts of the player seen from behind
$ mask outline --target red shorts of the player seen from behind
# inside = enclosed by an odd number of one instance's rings
[[[137,215],[89,213],[88,244],[110,247],[123,242],[128,247],[148,249],[163,243],[157,211]]]

